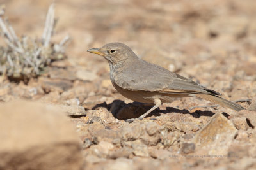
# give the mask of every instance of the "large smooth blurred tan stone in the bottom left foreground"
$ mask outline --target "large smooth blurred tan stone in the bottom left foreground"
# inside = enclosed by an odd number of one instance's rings
[[[58,108],[12,101],[0,105],[0,169],[80,169],[81,141]]]

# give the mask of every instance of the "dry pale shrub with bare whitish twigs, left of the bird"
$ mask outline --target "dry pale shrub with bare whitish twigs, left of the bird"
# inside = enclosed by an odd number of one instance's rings
[[[65,58],[65,47],[69,36],[65,36],[60,43],[52,43],[56,25],[54,18],[54,4],[49,7],[42,38],[17,38],[15,31],[4,17],[4,6],[0,7],[0,35],[6,46],[0,46],[0,74],[10,80],[29,80],[39,76],[44,68],[54,60]]]

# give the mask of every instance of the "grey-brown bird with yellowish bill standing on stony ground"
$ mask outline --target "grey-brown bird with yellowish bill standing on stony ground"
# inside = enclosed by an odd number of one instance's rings
[[[141,103],[154,103],[150,110],[138,117],[140,120],[162,103],[172,103],[182,97],[198,97],[232,110],[244,110],[243,106],[220,97],[219,92],[140,59],[124,43],[108,43],[87,52],[102,55],[108,61],[111,83],[122,96]],[[127,120],[132,121],[134,118]]]

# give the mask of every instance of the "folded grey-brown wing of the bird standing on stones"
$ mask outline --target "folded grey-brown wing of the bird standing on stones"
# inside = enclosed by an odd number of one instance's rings
[[[144,75],[144,76],[142,76]],[[124,77],[124,76],[122,76]],[[184,78],[179,74],[168,72],[156,76],[156,74],[130,74],[126,78],[120,78],[118,86],[123,89],[144,92],[160,92],[168,94],[213,94],[221,95],[214,90],[207,89],[195,81]]]

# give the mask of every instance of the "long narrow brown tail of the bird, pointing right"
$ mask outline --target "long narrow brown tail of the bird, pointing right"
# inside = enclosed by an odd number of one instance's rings
[[[244,110],[244,108],[242,106],[240,106],[239,104],[236,104],[232,101],[228,101],[219,96],[214,96],[211,94],[195,94],[195,96],[199,97],[201,99],[205,99],[207,101],[211,101],[212,103],[220,104],[221,106],[225,106],[232,110],[236,110],[236,111]]]

